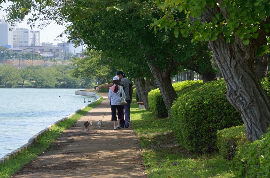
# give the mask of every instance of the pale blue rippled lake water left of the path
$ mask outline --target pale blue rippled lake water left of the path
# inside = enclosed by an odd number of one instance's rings
[[[75,95],[76,90],[80,89],[0,88],[0,158],[50,124],[91,104],[88,99],[95,100]]]

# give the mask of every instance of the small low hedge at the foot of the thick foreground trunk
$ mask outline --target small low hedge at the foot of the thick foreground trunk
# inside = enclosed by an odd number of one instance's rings
[[[217,131],[217,147],[220,155],[225,159],[232,160],[235,151],[245,143],[250,143],[250,141],[245,136],[244,124]]]

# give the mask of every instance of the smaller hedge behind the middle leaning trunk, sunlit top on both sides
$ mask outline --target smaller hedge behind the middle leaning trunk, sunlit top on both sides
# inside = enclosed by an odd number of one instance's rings
[[[176,93],[179,92],[179,90],[182,90],[183,88],[187,88],[191,85],[196,85],[202,83],[201,80],[194,81],[194,80],[187,80],[183,82],[176,82],[173,85],[174,90]],[[151,90],[148,93],[148,107],[149,110],[153,113],[156,117],[167,117],[168,116],[168,110],[163,102],[160,90],[157,88],[155,90]]]

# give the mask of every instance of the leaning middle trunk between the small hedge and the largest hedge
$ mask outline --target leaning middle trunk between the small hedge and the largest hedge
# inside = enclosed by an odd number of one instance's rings
[[[156,65],[150,64],[149,62],[147,62],[147,64],[157,82],[162,99],[169,111],[171,121],[173,122],[171,107],[173,105],[173,101],[177,98],[177,94],[174,91],[173,85],[170,80],[171,70],[161,70],[160,67]]]

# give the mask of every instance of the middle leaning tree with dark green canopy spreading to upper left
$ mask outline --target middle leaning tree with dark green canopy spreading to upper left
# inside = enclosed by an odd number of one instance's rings
[[[41,14],[57,23],[69,22],[65,33],[70,35],[70,41],[102,50],[104,59],[114,61],[110,65],[117,63],[118,68],[127,69],[128,76],[143,78],[151,71],[162,96],[167,96],[163,99],[169,111],[177,97],[170,77],[180,65],[196,70],[206,80],[214,79],[206,44],[191,44],[190,39],[176,38],[167,30],[157,34],[149,31],[152,18],[160,16],[153,1],[46,1],[46,5],[41,5],[40,0],[16,1],[7,9],[8,21],[13,24],[22,20],[30,9],[38,11],[28,19],[32,25],[41,19]],[[142,70],[147,66],[150,70]]]

